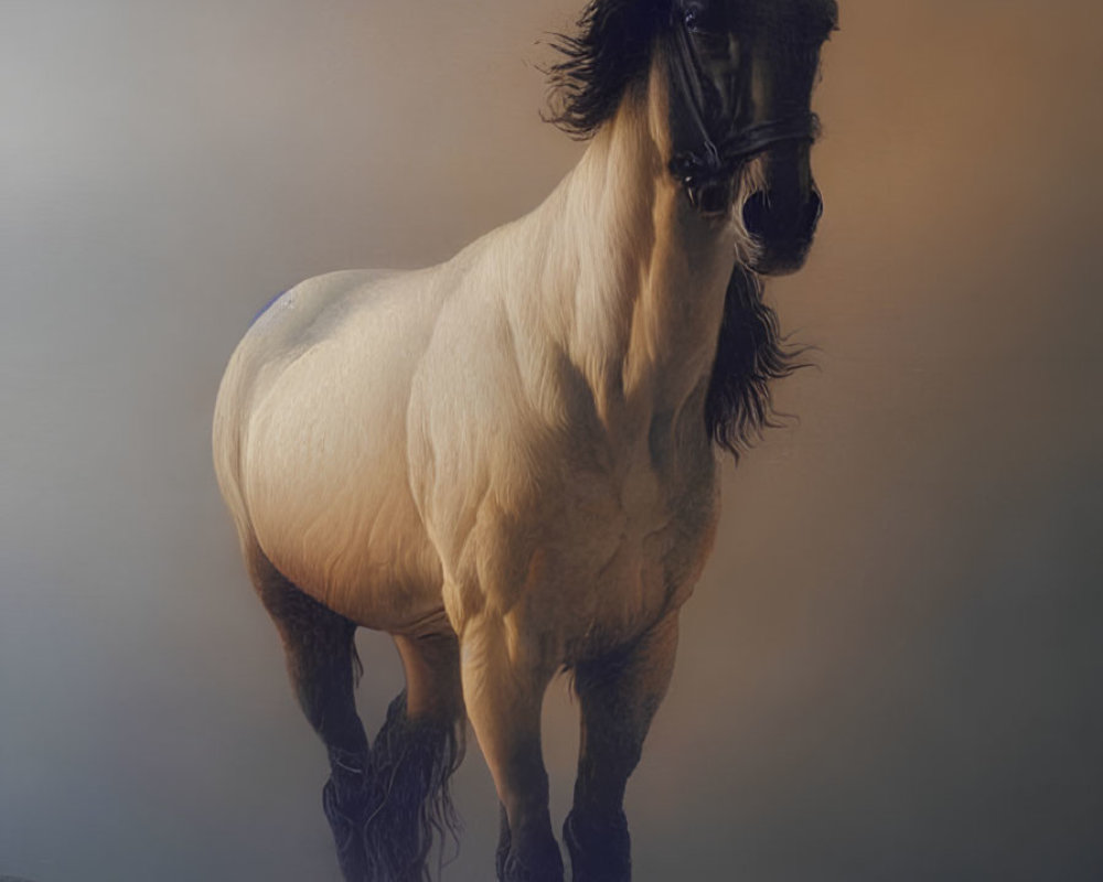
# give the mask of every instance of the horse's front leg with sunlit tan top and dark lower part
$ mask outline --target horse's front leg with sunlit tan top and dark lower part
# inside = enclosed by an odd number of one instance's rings
[[[500,882],[563,882],[552,832],[548,776],[540,750],[540,708],[555,673],[523,637],[484,614],[461,638],[463,699],[502,804]]]

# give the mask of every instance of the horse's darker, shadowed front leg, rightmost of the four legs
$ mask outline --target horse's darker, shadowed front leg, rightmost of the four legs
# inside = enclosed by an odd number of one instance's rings
[[[674,670],[677,613],[639,642],[575,668],[581,741],[575,802],[564,825],[574,882],[632,878],[624,789]]]

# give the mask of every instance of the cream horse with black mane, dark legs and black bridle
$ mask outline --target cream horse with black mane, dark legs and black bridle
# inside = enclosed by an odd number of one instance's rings
[[[631,878],[623,799],[711,549],[722,454],[796,366],[763,279],[823,202],[811,96],[834,0],[591,0],[546,117],[587,149],[450,260],[301,282],[215,408],[221,491],[331,774],[350,882],[431,878],[467,720],[501,803],[501,882],[561,882],[540,708],[581,719],[576,882]],[[406,688],[374,741],[358,627]]]

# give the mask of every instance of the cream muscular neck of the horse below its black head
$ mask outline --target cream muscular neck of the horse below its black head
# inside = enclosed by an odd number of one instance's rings
[[[607,421],[704,407],[735,260],[730,230],[693,211],[666,169],[665,108],[653,73],[550,201],[566,348]]]

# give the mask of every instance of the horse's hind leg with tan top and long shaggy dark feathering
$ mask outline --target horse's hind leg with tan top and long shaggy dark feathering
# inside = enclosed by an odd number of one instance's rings
[[[463,695],[453,634],[395,636],[406,670],[404,689],[387,710],[372,747],[376,807],[366,847],[388,882],[431,878],[429,857],[447,838],[458,846],[460,822],[448,782],[463,753]]]

